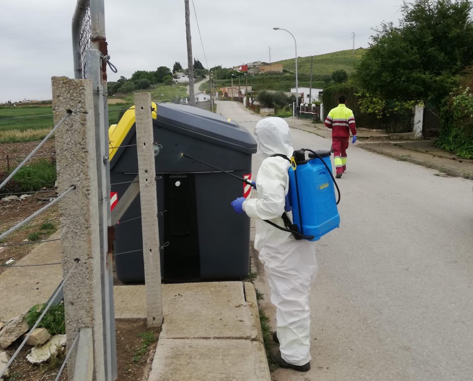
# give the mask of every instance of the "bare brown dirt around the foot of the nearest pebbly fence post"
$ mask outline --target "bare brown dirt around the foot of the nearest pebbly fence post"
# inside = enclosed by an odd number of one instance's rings
[[[118,380],[141,381],[143,375],[148,375],[151,362],[156,350],[159,330],[147,329],[145,319],[116,320],[117,368]],[[154,343],[143,348],[144,339],[138,335],[145,332],[156,337]],[[12,355],[18,348],[19,341],[7,350]],[[5,381],[54,381],[65,354],[61,354],[48,364],[33,365],[26,360],[31,347],[25,347],[19,353],[17,360],[10,366],[10,375]],[[145,352],[146,350],[146,352]],[[67,367],[61,374],[60,381],[67,380]]]

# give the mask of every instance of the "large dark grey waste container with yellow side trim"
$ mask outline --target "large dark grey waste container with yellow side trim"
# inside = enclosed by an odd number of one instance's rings
[[[128,113],[128,115],[127,115]],[[132,120],[130,119],[130,115]],[[256,142],[236,122],[187,105],[158,104],[153,119],[154,140],[162,145],[156,156],[161,275],[165,281],[240,279],[249,270],[250,219],[237,215],[230,202],[244,195],[244,183],[181,156],[251,175]],[[128,117],[128,119],[127,119]],[[114,128],[119,148],[110,161],[112,183],[130,182],[138,172],[134,111],[127,111]],[[118,199],[130,184],[117,184]],[[116,276],[126,283],[143,282],[140,196],[115,228]],[[168,242],[168,243],[167,243]],[[136,251],[140,250],[140,251]]]

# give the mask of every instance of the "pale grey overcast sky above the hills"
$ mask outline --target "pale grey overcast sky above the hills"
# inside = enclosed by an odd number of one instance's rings
[[[73,77],[76,0],[0,0],[0,102],[51,99],[51,77]],[[210,67],[367,47],[372,27],[396,21],[402,0],[194,0]],[[105,0],[110,61],[118,73],[187,67],[183,0]],[[206,66],[191,0],[193,57]]]

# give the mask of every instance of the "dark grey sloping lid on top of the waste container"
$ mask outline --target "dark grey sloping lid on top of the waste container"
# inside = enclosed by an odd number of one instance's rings
[[[251,134],[230,118],[183,104],[158,104],[157,121],[180,127],[179,132],[211,138],[214,144],[228,143],[233,149],[255,153],[257,144]],[[187,130],[187,131],[186,131]]]

